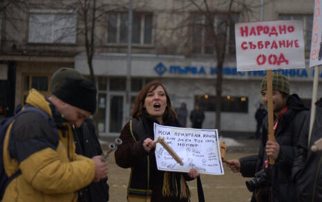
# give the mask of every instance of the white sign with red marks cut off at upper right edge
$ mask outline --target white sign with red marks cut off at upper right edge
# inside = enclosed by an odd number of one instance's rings
[[[315,0],[313,26],[312,26],[312,41],[311,41],[311,54],[310,54],[310,68],[322,64],[322,50],[321,50],[321,3]]]

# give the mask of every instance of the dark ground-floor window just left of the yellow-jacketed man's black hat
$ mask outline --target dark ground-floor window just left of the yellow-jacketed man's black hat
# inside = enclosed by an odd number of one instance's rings
[[[35,88],[41,94],[48,97],[50,96],[50,74],[22,74],[22,100],[21,103],[26,101],[26,97],[28,95],[29,90]]]

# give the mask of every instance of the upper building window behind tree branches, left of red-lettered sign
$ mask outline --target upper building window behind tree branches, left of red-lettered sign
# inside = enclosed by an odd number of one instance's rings
[[[193,54],[214,54],[214,43],[224,41],[227,37],[227,51],[235,52],[235,23],[238,22],[238,14],[233,13],[230,16],[231,23],[226,31],[226,25],[229,22],[227,14],[212,14],[209,18],[205,14],[192,14],[192,34],[191,44]],[[214,39],[214,33],[217,39]],[[227,34],[225,36],[225,34]]]

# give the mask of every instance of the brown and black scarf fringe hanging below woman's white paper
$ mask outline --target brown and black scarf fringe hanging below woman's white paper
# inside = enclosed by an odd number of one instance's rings
[[[164,172],[162,196],[189,199],[190,191],[181,173]]]

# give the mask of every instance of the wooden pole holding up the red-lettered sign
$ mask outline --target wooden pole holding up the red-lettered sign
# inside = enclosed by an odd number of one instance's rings
[[[273,108],[273,82],[272,82],[272,70],[267,70],[267,112],[268,112],[268,139],[270,141],[276,141],[274,137],[274,108]],[[269,165],[274,165],[275,160],[269,158]]]

